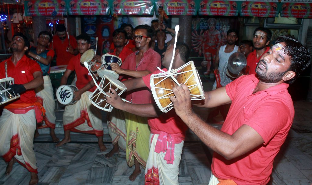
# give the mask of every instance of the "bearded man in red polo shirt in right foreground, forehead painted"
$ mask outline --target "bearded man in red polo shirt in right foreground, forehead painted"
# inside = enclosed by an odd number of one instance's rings
[[[231,104],[221,128],[193,112],[188,88],[173,88],[177,115],[212,150],[209,185],[266,185],[273,161],[294,119],[287,91],[310,64],[309,50],[292,36],[280,36],[260,59],[257,76],[244,75],[225,87],[205,92],[204,107]]]

